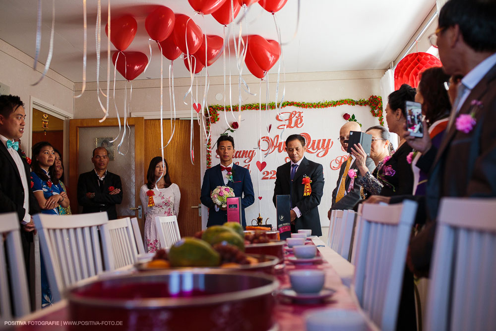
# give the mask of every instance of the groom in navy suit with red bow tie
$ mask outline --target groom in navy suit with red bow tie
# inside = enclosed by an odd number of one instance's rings
[[[200,200],[208,207],[207,227],[212,225],[222,225],[227,222],[226,208],[219,208],[210,198],[211,192],[218,186],[229,186],[234,189],[236,197],[242,197],[241,215],[243,217],[243,227],[246,227],[245,208],[252,205],[255,199],[253,184],[248,169],[233,162],[234,138],[230,135],[221,135],[217,139],[217,150],[220,157],[220,164],[205,171],[203,184],[201,185]],[[232,180],[229,179],[228,172],[232,172]],[[244,197],[243,197],[244,195]]]

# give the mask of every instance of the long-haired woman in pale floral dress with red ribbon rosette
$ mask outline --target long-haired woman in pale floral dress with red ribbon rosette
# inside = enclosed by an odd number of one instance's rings
[[[167,162],[162,162],[160,156],[150,161],[146,179],[148,182],[141,187],[139,198],[145,212],[146,249],[154,253],[160,248],[155,216],[178,216],[181,192],[177,184],[171,183]]]

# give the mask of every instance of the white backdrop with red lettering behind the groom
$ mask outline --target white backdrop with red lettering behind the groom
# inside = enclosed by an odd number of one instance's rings
[[[262,108],[264,105],[262,104]],[[230,135],[235,140],[233,161],[248,168],[255,192],[255,202],[245,209],[247,225],[260,212],[264,221],[275,227],[276,209],[272,203],[276,169],[289,161],[285,150],[285,140],[290,134],[302,134],[307,140],[307,151],[304,156],[309,160],[322,164],[324,169],[324,191],[320,201],[319,215],[322,226],[329,226],[327,211],[331,207],[332,191],[336,186],[339,168],[347,153],[339,143],[339,129],[346,121],[345,113],[355,114],[362,124],[362,130],[378,125],[378,120],[372,117],[368,106],[338,106],[323,109],[304,109],[285,107],[280,116],[275,110],[261,111],[246,110],[242,112],[240,127]],[[227,112],[229,124],[238,121],[238,113]],[[224,112],[219,112],[220,120],[211,126],[212,130],[212,166],[220,163],[215,152],[215,142],[221,133],[228,129]],[[288,124],[288,128],[284,129]],[[271,125],[270,132],[267,132]],[[260,130],[261,129],[261,130]],[[282,133],[282,137],[281,137]],[[257,147],[260,147],[259,149]],[[266,166],[260,172],[256,162],[265,162]],[[261,199],[258,199],[261,197]]]

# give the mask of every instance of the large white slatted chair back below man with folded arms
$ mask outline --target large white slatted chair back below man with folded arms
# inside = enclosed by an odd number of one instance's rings
[[[54,302],[75,282],[115,269],[106,212],[33,218]]]

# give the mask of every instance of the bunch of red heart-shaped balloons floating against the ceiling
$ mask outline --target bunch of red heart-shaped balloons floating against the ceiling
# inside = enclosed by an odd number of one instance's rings
[[[191,7],[202,14],[212,14],[221,24],[227,25],[238,15],[242,6],[250,6],[258,2],[269,12],[279,11],[287,0],[188,0]],[[132,15],[124,15],[111,20],[110,40],[117,49],[112,56],[116,69],[127,80],[139,76],[148,64],[147,56],[142,52],[125,51],[134,39],[137,22]],[[189,71],[200,72],[203,67],[211,66],[222,54],[223,39],[216,35],[204,35],[201,28],[184,14],[175,14],[170,8],[157,6],[145,19],[146,32],[151,40],[160,45],[162,54],[173,61],[182,53]],[[105,27],[108,35],[108,24]],[[248,70],[258,78],[262,78],[277,62],[280,56],[279,44],[274,40],[265,40],[258,35],[245,37],[248,42],[246,65]]]

